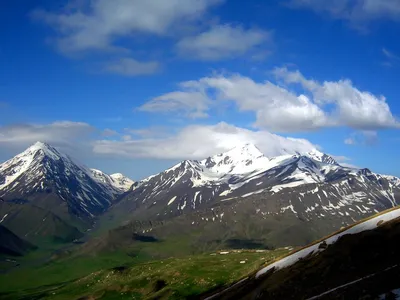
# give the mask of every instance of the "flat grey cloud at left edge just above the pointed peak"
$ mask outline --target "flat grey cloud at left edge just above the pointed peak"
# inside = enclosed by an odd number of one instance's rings
[[[51,124],[18,124],[0,127],[0,146],[21,149],[42,141],[55,146],[70,147],[87,139],[95,128],[87,123],[59,121]]]

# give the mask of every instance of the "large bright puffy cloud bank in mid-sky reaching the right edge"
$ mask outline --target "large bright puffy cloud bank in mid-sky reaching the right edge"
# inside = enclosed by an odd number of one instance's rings
[[[400,128],[385,97],[360,91],[350,80],[320,83],[286,68],[275,69],[273,74],[283,84],[256,82],[239,74],[217,74],[183,82],[179,90],[154,98],[140,109],[183,111],[190,117],[206,117],[206,111],[229,101],[240,111],[253,112],[255,127],[276,132],[334,126],[356,130]],[[303,93],[288,88],[294,84],[303,87]]]

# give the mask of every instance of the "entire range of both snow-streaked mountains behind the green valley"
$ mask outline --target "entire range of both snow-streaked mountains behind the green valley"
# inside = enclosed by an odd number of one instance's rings
[[[317,149],[266,157],[245,144],[133,182],[38,142],[0,165],[0,197],[1,225],[30,242],[73,241],[102,224],[120,227],[88,249],[130,245],[134,232],[190,237],[202,251],[309,243],[396,206],[400,179],[341,166]]]

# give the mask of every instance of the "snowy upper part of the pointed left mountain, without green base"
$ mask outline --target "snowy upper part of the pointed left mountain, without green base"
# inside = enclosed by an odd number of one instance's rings
[[[0,164],[1,197],[28,200],[51,194],[84,215],[108,208],[117,195],[129,190],[128,185],[128,179],[121,183],[90,170],[42,142]]]

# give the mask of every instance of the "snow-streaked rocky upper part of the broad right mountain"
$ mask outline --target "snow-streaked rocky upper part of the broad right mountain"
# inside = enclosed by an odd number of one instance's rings
[[[290,211],[309,219],[374,213],[396,205],[399,191],[398,178],[340,166],[317,150],[267,158],[247,144],[138,182],[123,202],[159,219],[259,195],[270,205],[279,198],[274,209],[254,207],[259,214]]]

